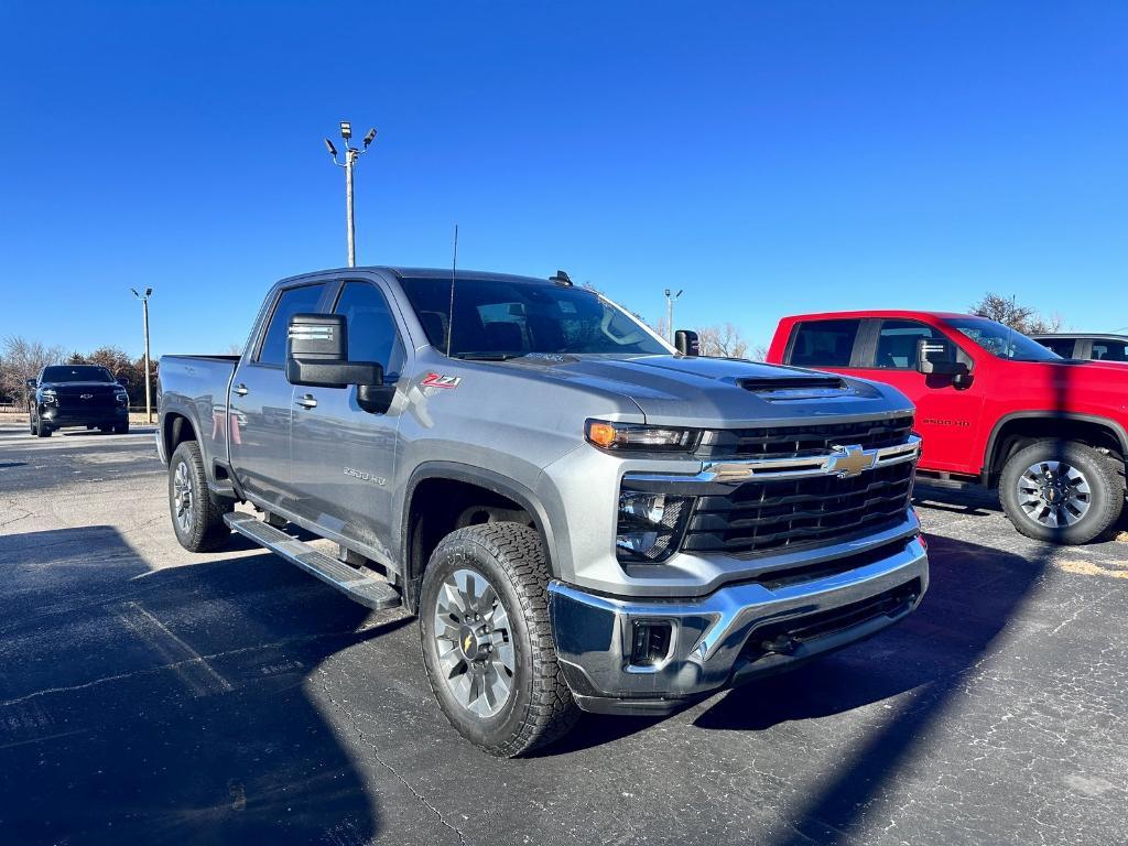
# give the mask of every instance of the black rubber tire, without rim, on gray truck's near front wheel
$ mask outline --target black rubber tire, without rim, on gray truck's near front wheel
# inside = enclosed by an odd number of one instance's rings
[[[444,580],[456,578],[458,571],[484,576],[493,588],[494,606],[500,603],[506,615],[513,671],[508,699],[495,715],[475,714],[459,702],[440,669],[434,633],[439,593]],[[532,529],[510,522],[483,523],[443,538],[423,575],[420,637],[439,706],[462,737],[490,755],[512,758],[529,752],[563,737],[575,724],[580,708],[556,658],[548,622],[548,571],[540,537]]]

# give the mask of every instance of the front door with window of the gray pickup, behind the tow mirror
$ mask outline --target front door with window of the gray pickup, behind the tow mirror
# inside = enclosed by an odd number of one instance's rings
[[[399,380],[405,346],[384,291],[370,281],[341,287],[333,309],[344,315],[350,361],[376,361],[385,385]],[[356,404],[356,387],[294,386],[290,457],[297,513],[319,527],[373,548],[387,561],[391,537],[391,479],[400,395],[385,411]]]

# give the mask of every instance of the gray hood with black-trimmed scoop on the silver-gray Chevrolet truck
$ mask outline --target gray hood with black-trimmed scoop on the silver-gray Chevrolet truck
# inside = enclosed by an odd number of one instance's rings
[[[647,423],[668,425],[740,428],[913,411],[885,385],[738,359],[532,354],[502,365],[627,396]]]

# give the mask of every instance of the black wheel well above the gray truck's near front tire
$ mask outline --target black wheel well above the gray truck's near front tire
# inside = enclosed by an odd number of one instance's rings
[[[423,571],[431,553],[447,535],[464,526],[488,522],[517,522],[537,530],[544,544],[544,532],[532,513],[503,493],[460,479],[432,477],[420,482],[411,492],[405,526],[406,603],[411,610],[418,605]],[[547,561],[548,549],[545,547]]]

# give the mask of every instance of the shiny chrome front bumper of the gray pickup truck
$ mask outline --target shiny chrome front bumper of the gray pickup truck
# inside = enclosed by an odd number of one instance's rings
[[[919,605],[928,559],[919,537],[726,584],[706,597],[634,601],[548,585],[556,651],[580,706],[664,714],[880,632]],[[669,623],[670,646],[632,664],[637,623]]]

